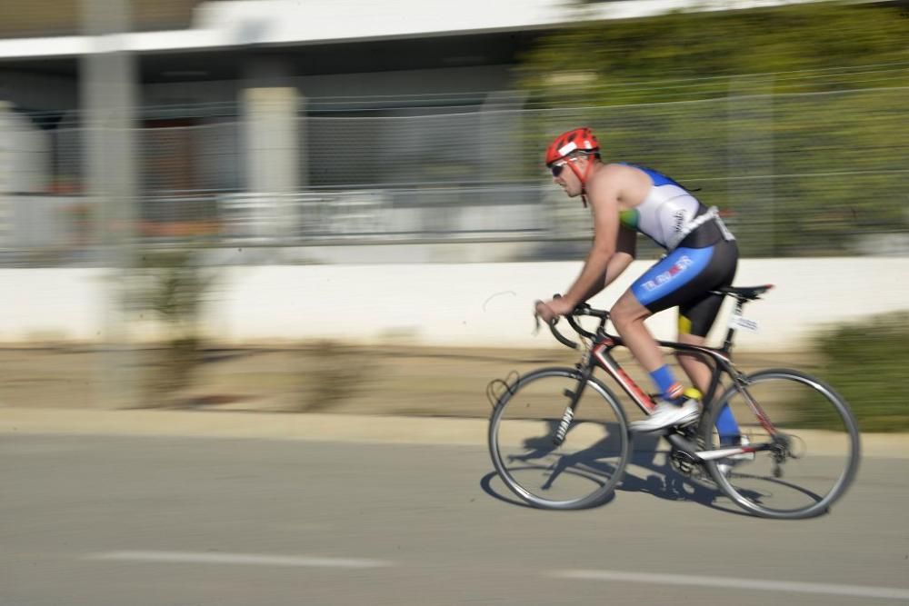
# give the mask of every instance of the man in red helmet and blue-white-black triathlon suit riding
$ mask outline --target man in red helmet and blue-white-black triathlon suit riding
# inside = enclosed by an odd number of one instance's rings
[[[666,364],[644,320],[679,308],[678,340],[704,344],[723,297],[712,289],[733,282],[738,263],[734,236],[715,208],[707,208],[664,174],[635,164],[604,164],[589,128],[557,136],[546,149],[546,166],[568,197],[590,202],[594,242],[584,268],[560,298],[537,302],[546,322],[570,313],[624,272],[634,261],[637,232],[664,247],[666,255],[644,272],[615,302],[610,316],[634,358],[650,373],[660,392],[654,412],[631,423],[635,432],[654,432],[693,422],[698,400],[710,381],[707,365],[694,355],[678,354],[697,390],[684,390]],[[566,170],[567,169],[567,170]],[[723,442],[739,442],[738,426],[726,407],[717,422]]]

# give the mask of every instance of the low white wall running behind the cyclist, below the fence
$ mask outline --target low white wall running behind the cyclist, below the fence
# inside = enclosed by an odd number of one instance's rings
[[[634,263],[594,303],[614,301],[647,264]],[[225,267],[205,330],[225,344],[330,338],[551,347],[547,333],[532,334],[534,299],[564,290],[579,269],[580,263]],[[0,270],[0,343],[94,342],[105,273]],[[776,287],[749,305],[745,316],[762,331],[741,333],[738,347],[799,350],[825,325],[909,309],[907,274],[909,258],[746,259],[736,284]],[[658,336],[673,335],[674,312],[649,322]],[[145,336],[155,335],[150,328],[143,327]]]

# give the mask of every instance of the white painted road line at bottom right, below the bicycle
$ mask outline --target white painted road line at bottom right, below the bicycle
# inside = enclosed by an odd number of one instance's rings
[[[789,591],[794,593],[823,593],[827,595],[909,600],[909,589],[897,587],[872,587],[868,585],[831,585],[796,581],[759,581],[729,577],[704,577],[687,574],[647,574],[625,571],[554,571],[549,576],[558,579],[584,581],[618,581],[661,585],[691,585],[695,587],[724,587],[764,591]]]

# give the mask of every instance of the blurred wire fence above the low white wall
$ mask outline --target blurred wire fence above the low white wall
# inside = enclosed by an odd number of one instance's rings
[[[746,255],[906,253],[906,95],[298,116],[291,192],[251,191],[251,158],[263,150],[236,118],[161,121],[138,137],[135,233],[213,247],[521,241],[523,258],[559,258],[589,238],[590,221],[551,184],[542,150],[553,134],[590,124],[605,160],[652,166],[720,207]],[[29,134],[44,144],[17,144],[27,137],[15,124],[4,156],[4,261],[82,258],[96,241],[82,196],[84,131],[64,123]]]

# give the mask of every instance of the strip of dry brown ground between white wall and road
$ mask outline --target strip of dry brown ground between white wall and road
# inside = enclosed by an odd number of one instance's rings
[[[140,376],[154,357],[154,351],[137,354]],[[650,389],[646,374],[627,355],[618,359],[635,381]],[[542,366],[572,365],[576,360],[576,354],[567,350],[337,343],[283,350],[209,350],[193,374],[192,386],[176,392],[169,405],[232,411],[485,417],[490,412],[485,396],[488,382]],[[737,360],[745,370],[779,365],[816,370],[804,354],[743,354]],[[105,367],[102,354],[86,350],[3,350],[0,405],[95,406],[99,382],[111,370]],[[629,412],[634,411],[629,408]]]

